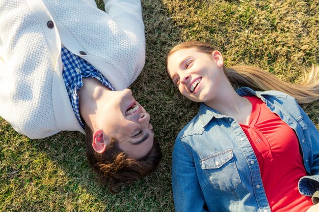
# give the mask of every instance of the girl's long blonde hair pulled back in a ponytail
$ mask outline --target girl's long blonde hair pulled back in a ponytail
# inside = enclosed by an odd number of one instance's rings
[[[168,74],[168,58],[180,49],[195,48],[200,52],[211,54],[215,48],[201,41],[188,41],[173,47],[166,58],[166,74]],[[311,70],[304,72],[299,84],[284,82],[271,73],[251,66],[232,66],[224,69],[230,82],[247,85],[262,90],[279,90],[292,97],[298,103],[305,104],[319,99],[319,67],[312,66]]]

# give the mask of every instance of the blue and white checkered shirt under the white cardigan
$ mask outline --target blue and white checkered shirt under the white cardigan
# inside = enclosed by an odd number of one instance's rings
[[[61,57],[63,64],[63,80],[69,99],[77,118],[78,123],[84,129],[81,116],[79,114],[77,92],[83,86],[82,77],[96,78],[103,85],[111,90],[115,90],[111,83],[97,69],[89,64],[85,59],[73,54],[67,48],[62,46]]]

